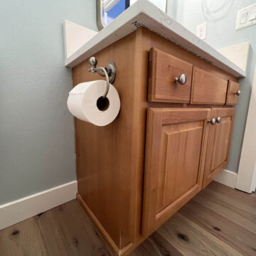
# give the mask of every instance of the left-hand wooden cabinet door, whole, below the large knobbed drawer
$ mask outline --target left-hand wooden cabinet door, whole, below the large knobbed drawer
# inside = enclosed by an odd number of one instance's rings
[[[149,235],[201,190],[210,109],[149,108],[142,233]]]

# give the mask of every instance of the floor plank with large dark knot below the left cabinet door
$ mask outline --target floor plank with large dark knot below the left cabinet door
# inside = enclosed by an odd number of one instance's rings
[[[181,254],[186,256],[242,256],[220,239],[176,213],[157,231]]]

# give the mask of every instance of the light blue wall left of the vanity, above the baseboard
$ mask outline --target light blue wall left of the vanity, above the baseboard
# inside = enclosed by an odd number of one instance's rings
[[[97,30],[95,0],[1,0],[0,205],[73,181],[63,21]]]

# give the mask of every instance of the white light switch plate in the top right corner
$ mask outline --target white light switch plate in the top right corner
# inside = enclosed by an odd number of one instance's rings
[[[256,24],[256,4],[247,6],[238,11],[237,21],[235,30],[238,31],[242,28],[247,28],[249,26]]]

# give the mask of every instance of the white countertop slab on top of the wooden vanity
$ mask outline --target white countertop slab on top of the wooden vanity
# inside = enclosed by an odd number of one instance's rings
[[[158,9],[148,0],[137,0],[126,11],[120,14],[110,25],[85,42],[75,53],[65,58],[65,66],[73,68],[83,60],[90,58],[99,50],[132,33],[140,26],[159,34],[166,40],[175,43],[189,52],[212,63],[213,65],[235,75],[245,77],[245,70],[225,58],[218,50],[209,46],[198,36],[188,31],[180,23]]]

